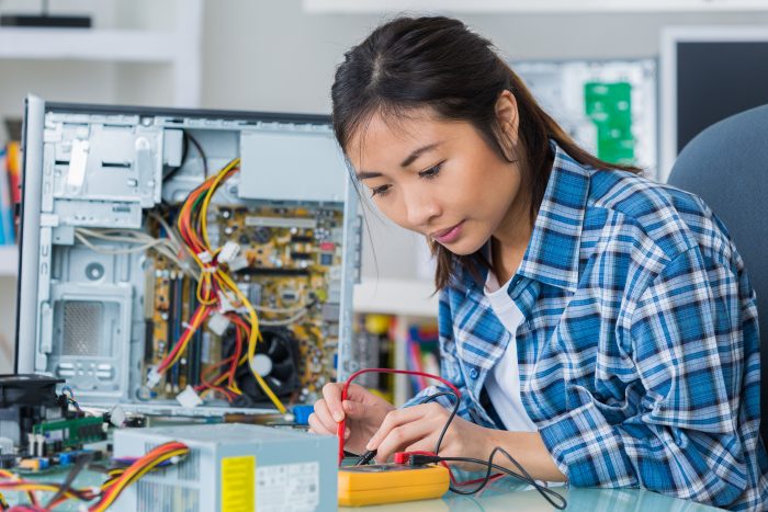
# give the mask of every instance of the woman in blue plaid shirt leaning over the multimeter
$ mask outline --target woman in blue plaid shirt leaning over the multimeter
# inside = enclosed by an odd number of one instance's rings
[[[488,41],[397,19],[332,87],[336,136],[379,209],[437,259],[443,377],[461,392],[440,454],[502,446],[537,479],[768,502],[755,294],[691,194],[598,160]],[[347,446],[434,447],[449,410],[324,388],[310,430]],[[501,464],[501,463],[499,463]]]

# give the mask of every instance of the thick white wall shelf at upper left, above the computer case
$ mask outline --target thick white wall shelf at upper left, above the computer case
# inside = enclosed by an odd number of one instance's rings
[[[128,30],[0,29],[0,58],[173,62],[173,33]]]

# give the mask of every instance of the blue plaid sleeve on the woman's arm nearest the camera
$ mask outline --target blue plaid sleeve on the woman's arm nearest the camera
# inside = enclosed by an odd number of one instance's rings
[[[621,377],[633,380],[628,396],[641,395],[636,414],[615,420],[615,405],[581,388],[579,403],[540,433],[573,486],[643,487],[726,505],[747,486],[737,432],[745,371],[737,271],[694,247],[648,281],[618,328],[636,372]]]

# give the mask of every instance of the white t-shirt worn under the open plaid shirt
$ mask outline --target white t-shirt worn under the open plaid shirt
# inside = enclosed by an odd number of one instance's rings
[[[518,368],[518,348],[515,333],[522,322],[522,312],[507,294],[509,282],[499,286],[493,272],[488,272],[485,282],[485,296],[490,301],[496,317],[512,335],[501,359],[488,373],[485,387],[488,398],[508,431],[535,432],[535,423],[531,421],[520,400],[520,369]]]

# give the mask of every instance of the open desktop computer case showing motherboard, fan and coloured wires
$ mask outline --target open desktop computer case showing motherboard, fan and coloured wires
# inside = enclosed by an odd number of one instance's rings
[[[361,223],[327,116],[29,96],[23,172],[18,373],[215,414],[358,369]]]

